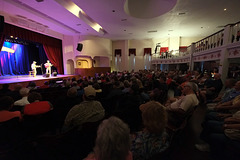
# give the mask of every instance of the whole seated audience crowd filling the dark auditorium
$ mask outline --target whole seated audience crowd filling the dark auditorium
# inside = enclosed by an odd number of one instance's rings
[[[203,123],[203,146],[209,144],[208,149],[213,155],[223,150],[228,153],[228,148],[221,145],[239,145],[240,81],[236,83],[234,79],[227,79],[225,90],[220,93],[223,87],[221,75],[217,72],[213,75],[214,78],[207,72],[188,71],[182,74],[177,70],[142,70],[96,73],[95,77],[79,80],[51,80],[50,84],[44,83],[40,87],[30,82],[28,88],[21,89],[19,86],[14,91],[3,85],[0,95],[10,95],[14,100],[0,98],[0,122],[14,117],[22,119],[20,112],[9,111],[14,101],[14,105],[24,106],[25,122],[27,116],[41,116],[53,110],[50,112],[54,115],[52,130],[63,135],[73,128],[84,132],[85,123],[98,122],[114,115],[118,118],[111,117],[99,126],[94,154],[86,159],[151,159],[164,153],[174,143],[174,139],[168,137],[168,134],[176,135],[176,130],[169,128],[170,124],[183,129],[180,125],[188,121],[199,102],[211,102],[207,104],[209,111]],[[58,132],[60,128],[64,132]],[[32,138],[31,134],[28,136]],[[201,150],[201,146],[198,144],[196,148]],[[76,150],[78,148],[73,152]]]

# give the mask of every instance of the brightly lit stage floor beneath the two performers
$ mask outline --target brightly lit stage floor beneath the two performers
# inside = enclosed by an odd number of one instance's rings
[[[36,77],[29,76],[29,75],[19,75],[19,76],[0,76],[0,86],[3,84],[9,84],[10,89],[13,89],[14,85],[19,83],[23,87],[26,87],[29,82],[34,81],[37,86],[43,85],[45,81],[49,81],[51,79],[72,79],[75,77],[76,79],[79,78],[79,75],[57,75],[51,77],[43,77],[42,75],[37,75]],[[1,87],[2,88],[2,87]]]

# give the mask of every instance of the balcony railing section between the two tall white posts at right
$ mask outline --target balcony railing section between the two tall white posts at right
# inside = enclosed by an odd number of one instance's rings
[[[201,52],[223,45],[224,29],[195,43],[195,52]]]

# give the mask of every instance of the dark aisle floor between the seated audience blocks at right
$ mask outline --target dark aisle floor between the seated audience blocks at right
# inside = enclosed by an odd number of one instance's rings
[[[170,160],[210,160],[208,152],[198,151],[194,144],[201,142],[199,135],[201,123],[206,113],[206,106],[199,106],[182,133],[182,140],[173,147]]]

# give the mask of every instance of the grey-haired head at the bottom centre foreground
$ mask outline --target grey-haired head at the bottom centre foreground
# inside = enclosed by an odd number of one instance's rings
[[[117,117],[104,120],[97,131],[94,152],[97,160],[130,160],[130,129]]]

